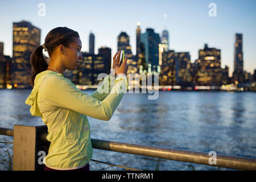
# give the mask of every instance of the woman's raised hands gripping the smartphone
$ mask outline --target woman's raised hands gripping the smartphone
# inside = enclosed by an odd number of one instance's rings
[[[121,55],[121,51],[117,53],[115,53],[114,57],[113,57],[113,69],[115,70],[115,75],[118,74],[125,74],[127,75],[127,69],[128,69],[128,65],[127,65],[127,58],[125,57],[125,60],[123,60],[123,63],[120,65],[120,55]]]

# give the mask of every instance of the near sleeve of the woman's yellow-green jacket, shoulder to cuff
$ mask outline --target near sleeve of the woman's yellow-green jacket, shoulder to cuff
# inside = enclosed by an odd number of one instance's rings
[[[100,101],[77,89],[67,78],[49,76],[40,85],[39,94],[41,97],[46,97],[54,102],[56,106],[71,109],[89,117],[109,121],[122,100],[123,93],[125,93],[123,91],[126,90],[127,78],[120,75],[115,79],[115,84],[108,96]]]

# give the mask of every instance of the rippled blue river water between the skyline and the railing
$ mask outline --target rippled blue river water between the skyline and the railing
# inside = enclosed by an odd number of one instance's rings
[[[44,125],[24,104],[30,93],[0,90],[0,127]],[[110,121],[88,119],[94,139],[256,158],[255,111],[255,92],[160,91],[156,100],[127,93]],[[230,170],[97,149],[93,159],[142,170]]]

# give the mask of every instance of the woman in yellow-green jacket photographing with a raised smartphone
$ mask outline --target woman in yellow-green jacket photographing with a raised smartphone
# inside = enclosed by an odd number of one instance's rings
[[[77,89],[63,73],[65,69],[76,69],[82,60],[81,47],[76,31],[57,27],[31,55],[33,89],[25,103],[31,105],[31,115],[40,116],[48,128],[47,139],[51,145],[44,158],[46,171],[89,170],[93,150],[86,116],[108,121],[122,99],[123,92],[119,90],[127,89],[127,58],[119,65],[120,51],[113,57],[115,72],[104,78],[104,83],[110,85],[110,77],[117,75],[108,93],[96,90],[88,95]],[[50,57],[49,65],[43,49]]]

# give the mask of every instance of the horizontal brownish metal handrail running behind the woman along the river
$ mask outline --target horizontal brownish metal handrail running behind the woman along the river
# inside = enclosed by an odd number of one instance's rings
[[[13,136],[13,129],[0,128],[1,135]],[[40,140],[47,141],[48,133],[42,133],[39,136]],[[130,144],[113,142],[108,140],[91,139],[92,146],[96,149],[108,150],[114,152],[122,152],[126,154],[150,156],[153,158],[177,160],[181,162],[204,164],[208,166],[241,169],[241,170],[256,170],[256,159],[243,158],[229,155],[216,155],[216,164],[209,163],[209,154],[206,152],[195,152],[188,150],[178,150],[175,148],[152,147],[140,144]]]

